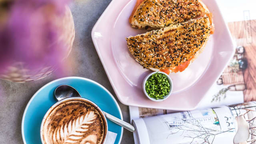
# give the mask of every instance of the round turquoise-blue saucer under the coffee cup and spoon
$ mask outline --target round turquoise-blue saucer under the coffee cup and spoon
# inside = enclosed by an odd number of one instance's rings
[[[56,103],[56,100],[54,99],[55,88],[62,84],[73,86],[83,98],[91,100],[105,112],[123,119],[122,112],[115,98],[102,85],[87,78],[60,78],[49,82],[40,88],[28,102],[23,114],[21,126],[24,144],[42,144],[40,139],[41,122],[47,110]],[[117,133],[115,144],[120,144],[123,128],[110,120],[107,121],[108,130]]]

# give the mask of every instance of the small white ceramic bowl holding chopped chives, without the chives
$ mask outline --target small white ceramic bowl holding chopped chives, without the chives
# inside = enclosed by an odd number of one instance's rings
[[[151,98],[151,97],[147,94],[147,92],[146,92],[146,88],[145,88],[145,87],[146,87],[146,81],[148,80],[148,78],[149,78],[150,76],[152,76],[152,75],[155,74],[155,73],[160,73],[160,74],[166,75],[167,78],[168,78],[168,80],[169,80],[169,83],[170,83],[170,92],[169,92],[166,96],[164,96],[163,99],[158,99],[158,100],[156,100],[155,98]],[[161,101],[163,101],[163,100],[166,100],[166,99],[171,95],[171,93],[172,93],[172,87],[173,87],[173,86],[172,86],[172,79],[170,78],[170,76],[169,76],[168,74],[166,74],[166,73],[164,73],[164,72],[152,72],[152,73],[148,74],[148,75],[146,76],[146,78],[144,79],[143,85],[142,85],[144,94],[145,94],[150,100],[153,100],[153,101],[155,101],[155,102],[161,102]]]

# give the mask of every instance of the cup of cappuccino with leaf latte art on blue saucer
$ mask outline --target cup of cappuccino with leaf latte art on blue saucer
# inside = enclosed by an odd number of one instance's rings
[[[103,144],[107,124],[95,104],[72,98],[48,110],[41,131],[44,144]]]

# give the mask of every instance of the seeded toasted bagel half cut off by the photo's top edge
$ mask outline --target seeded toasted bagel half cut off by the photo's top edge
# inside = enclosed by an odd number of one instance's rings
[[[212,14],[201,0],[137,0],[129,22],[134,28],[156,30]]]

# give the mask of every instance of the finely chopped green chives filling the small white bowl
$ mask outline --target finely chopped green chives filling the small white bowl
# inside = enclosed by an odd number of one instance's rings
[[[170,82],[166,75],[157,72],[148,78],[145,88],[150,98],[164,99],[170,92]]]

